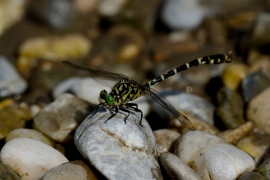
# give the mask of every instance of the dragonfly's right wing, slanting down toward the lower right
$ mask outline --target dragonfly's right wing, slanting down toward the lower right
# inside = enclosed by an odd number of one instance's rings
[[[190,130],[195,130],[193,124],[188,120],[188,118],[183,114],[181,114],[180,112],[178,112],[165,97],[159,94],[159,92],[157,92],[154,89],[147,91],[156,102],[158,102],[162,107],[171,112],[185,127],[187,127]]]

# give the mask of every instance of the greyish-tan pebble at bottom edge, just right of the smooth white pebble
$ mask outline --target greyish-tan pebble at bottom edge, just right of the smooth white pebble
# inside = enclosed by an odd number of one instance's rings
[[[89,167],[82,161],[70,161],[47,171],[41,180],[97,180]]]

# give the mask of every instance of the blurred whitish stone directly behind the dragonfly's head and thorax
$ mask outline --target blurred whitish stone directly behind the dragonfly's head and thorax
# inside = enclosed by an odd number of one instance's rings
[[[111,88],[115,85],[115,81],[101,80],[95,81],[91,77],[78,78],[73,77],[59,83],[53,89],[53,97],[57,98],[65,92],[71,92],[78,98],[88,101],[91,104],[99,104],[98,97],[101,90],[111,91]],[[138,104],[138,108],[142,110],[143,115],[149,114],[150,105],[146,96],[142,96],[132,101],[132,103]]]

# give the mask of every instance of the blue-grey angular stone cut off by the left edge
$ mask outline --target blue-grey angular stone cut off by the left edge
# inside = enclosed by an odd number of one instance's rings
[[[27,82],[5,57],[0,56],[0,98],[21,94],[26,88]]]

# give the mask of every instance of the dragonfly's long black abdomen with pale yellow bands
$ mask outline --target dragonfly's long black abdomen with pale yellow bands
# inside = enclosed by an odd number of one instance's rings
[[[201,58],[194,59],[193,61],[183,64],[173,70],[168,71],[167,73],[158,76],[157,78],[153,79],[152,81],[149,81],[144,84],[147,88],[150,88],[159,82],[163,81],[164,79],[167,79],[170,76],[175,75],[176,73],[179,73],[181,71],[184,71],[186,69],[189,69],[193,66],[198,66],[200,64],[220,64],[220,63],[228,63],[231,62],[233,59],[231,52],[228,54],[216,54],[216,55],[210,55],[210,56],[204,56]]]

